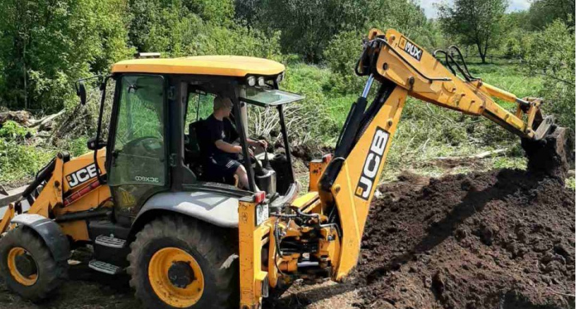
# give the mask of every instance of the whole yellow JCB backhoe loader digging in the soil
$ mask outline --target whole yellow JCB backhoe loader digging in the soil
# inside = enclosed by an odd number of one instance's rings
[[[283,65],[154,54],[117,62],[98,80],[92,151],[77,158],[58,154],[5,208],[1,277],[23,297],[49,297],[66,278],[71,251],[91,244],[90,268],[126,271],[148,308],[261,308],[271,291],[296,279],[339,282],[357,264],[370,202],[408,95],[487,117],[533,148],[544,140],[550,146],[556,137],[554,149],[562,152],[564,129],[542,115],[541,99],[517,98],[487,84],[463,60],[457,47],[429,54],[396,30],[371,30],[355,68],[368,76],[363,92],[350,106],[334,153],[310,162],[309,190],[301,196],[283,108],[303,97],[279,89]],[[82,103],[84,82],[76,84]],[[232,101],[229,125],[243,150],[247,189],[219,179],[203,163],[209,134],[203,122],[215,95]],[[516,103],[516,111],[496,98]],[[283,154],[250,155],[248,106],[276,108]]]

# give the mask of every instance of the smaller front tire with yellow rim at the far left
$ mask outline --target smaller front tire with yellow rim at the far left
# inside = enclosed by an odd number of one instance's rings
[[[0,275],[8,288],[30,301],[52,296],[68,273],[68,262],[56,262],[44,241],[26,227],[0,239]]]

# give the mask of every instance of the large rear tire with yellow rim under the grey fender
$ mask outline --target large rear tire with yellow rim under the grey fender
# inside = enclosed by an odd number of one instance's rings
[[[237,242],[184,216],[149,222],[130,244],[130,286],[147,308],[237,308]]]

